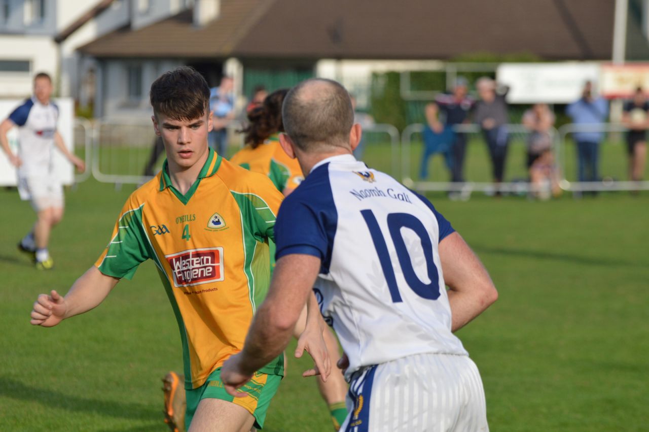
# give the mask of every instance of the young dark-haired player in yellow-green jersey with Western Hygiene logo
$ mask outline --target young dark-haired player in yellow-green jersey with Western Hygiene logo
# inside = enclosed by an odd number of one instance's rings
[[[280,355],[243,385],[247,396],[241,400],[220,381],[221,365],[243,348],[268,288],[269,240],[282,194],[264,175],[208,148],[209,97],[208,84],[191,68],[169,71],[153,83],[153,125],[167,153],[162,172],[129,197],[106,250],[66,296],[54,290],[38,296],[31,324],[52,327],[90,311],[121,278],[130,279],[152,259],[180,328],[186,426],[191,432],[240,432],[263,426],[284,373]],[[313,303],[315,311],[315,298]],[[305,333],[315,335],[310,353],[327,375],[317,318],[309,317],[313,330]]]

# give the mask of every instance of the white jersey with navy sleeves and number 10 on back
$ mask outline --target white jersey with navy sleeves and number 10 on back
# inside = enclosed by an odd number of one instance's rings
[[[284,200],[276,257],[322,260],[313,290],[348,378],[410,355],[468,355],[451,333],[437,248],[453,232],[430,201],[351,155],[321,161]]]

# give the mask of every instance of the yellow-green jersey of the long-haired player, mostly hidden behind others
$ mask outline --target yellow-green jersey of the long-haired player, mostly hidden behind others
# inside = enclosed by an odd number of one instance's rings
[[[288,157],[280,146],[277,134],[254,149],[251,146],[243,147],[230,158],[230,162],[267,175],[280,192],[286,188],[295,189],[304,180],[300,164],[297,159]]]

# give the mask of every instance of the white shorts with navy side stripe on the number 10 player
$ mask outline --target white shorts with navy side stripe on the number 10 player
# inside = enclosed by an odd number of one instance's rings
[[[419,354],[356,372],[343,432],[489,431],[484,388],[464,355]]]

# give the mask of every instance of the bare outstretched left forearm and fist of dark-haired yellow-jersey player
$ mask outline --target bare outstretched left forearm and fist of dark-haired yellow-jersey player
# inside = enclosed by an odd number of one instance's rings
[[[52,290],[49,294],[40,294],[31,313],[31,324],[42,327],[54,327],[66,318],[88,312],[97,307],[119,279],[104,275],[97,267],[92,266],[72,285],[65,297]]]

